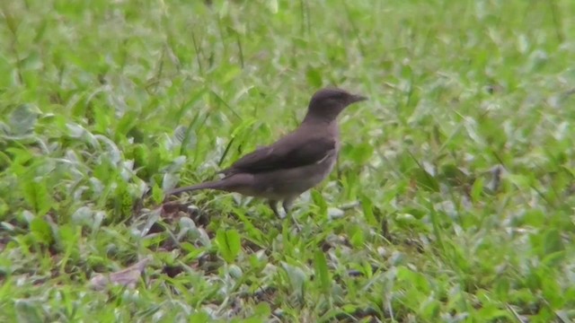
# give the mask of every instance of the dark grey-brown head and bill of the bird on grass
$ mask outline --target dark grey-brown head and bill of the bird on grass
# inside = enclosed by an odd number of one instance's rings
[[[367,100],[367,97],[351,94],[337,88],[322,89],[314,93],[307,108],[305,119],[335,120],[349,104]]]

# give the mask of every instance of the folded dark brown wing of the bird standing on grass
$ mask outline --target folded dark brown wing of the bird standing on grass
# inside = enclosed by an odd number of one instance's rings
[[[312,135],[288,135],[275,144],[248,153],[221,172],[230,175],[238,172],[258,173],[286,170],[321,162],[336,149],[335,138]]]

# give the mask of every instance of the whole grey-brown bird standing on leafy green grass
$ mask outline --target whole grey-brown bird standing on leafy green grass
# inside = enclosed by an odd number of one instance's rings
[[[367,100],[340,88],[323,88],[314,93],[305,118],[277,142],[247,153],[225,170],[224,178],[184,188],[168,196],[199,189],[235,192],[268,200],[281,218],[278,204],[289,214],[298,196],[320,184],[332,172],[340,152],[338,116],[350,104]]]

